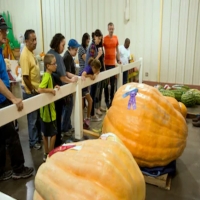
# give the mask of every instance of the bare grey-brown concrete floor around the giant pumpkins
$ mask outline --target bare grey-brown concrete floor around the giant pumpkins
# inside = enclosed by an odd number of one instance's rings
[[[183,155],[177,160],[177,174],[172,179],[171,190],[147,185],[146,200],[200,200],[200,128],[193,127],[191,119],[187,119],[187,123],[189,128],[187,146]],[[43,151],[29,149],[26,117],[19,119],[19,126],[25,165],[34,167],[36,173],[43,163]],[[93,128],[100,126],[101,123],[92,124]],[[32,200],[35,173],[29,179],[17,181],[10,179],[0,182],[0,192],[17,200]]]

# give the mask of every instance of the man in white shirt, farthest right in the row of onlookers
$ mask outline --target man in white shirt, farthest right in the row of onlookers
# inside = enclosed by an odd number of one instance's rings
[[[119,56],[120,61],[123,65],[126,65],[129,63],[129,57],[130,57],[130,39],[126,38],[124,45],[119,46]],[[123,72],[123,85],[128,82],[128,71]]]

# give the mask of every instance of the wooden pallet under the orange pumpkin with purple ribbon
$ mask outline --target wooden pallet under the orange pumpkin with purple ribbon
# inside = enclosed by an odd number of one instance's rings
[[[158,177],[144,175],[145,182],[151,185],[156,185],[160,188],[170,190],[172,177],[169,174],[164,174]]]

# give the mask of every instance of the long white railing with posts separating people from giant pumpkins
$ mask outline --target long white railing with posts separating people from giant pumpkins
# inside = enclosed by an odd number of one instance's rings
[[[140,58],[138,61],[127,65],[118,65],[116,68],[101,72],[93,81],[87,78],[85,81],[78,78],[77,83],[70,83],[60,87],[56,95],[43,93],[32,98],[23,100],[24,109],[20,112],[17,111],[16,105],[11,105],[0,109],[0,126],[7,124],[15,119],[18,119],[28,113],[37,110],[47,104],[50,104],[58,99],[61,99],[69,94],[74,93],[74,128],[75,138],[81,139],[83,137],[83,109],[82,109],[82,88],[90,86],[94,83],[105,80],[109,77],[117,75],[117,88],[122,86],[123,72],[137,67],[139,69],[139,83],[142,83],[142,65],[143,61]]]

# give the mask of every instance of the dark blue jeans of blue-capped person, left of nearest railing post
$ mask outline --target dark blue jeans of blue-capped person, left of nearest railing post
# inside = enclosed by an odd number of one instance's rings
[[[72,128],[71,124],[71,114],[73,110],[73,95],[68,95],[65,97],[65,104],[62,110],[62,132],[67,132]]]

